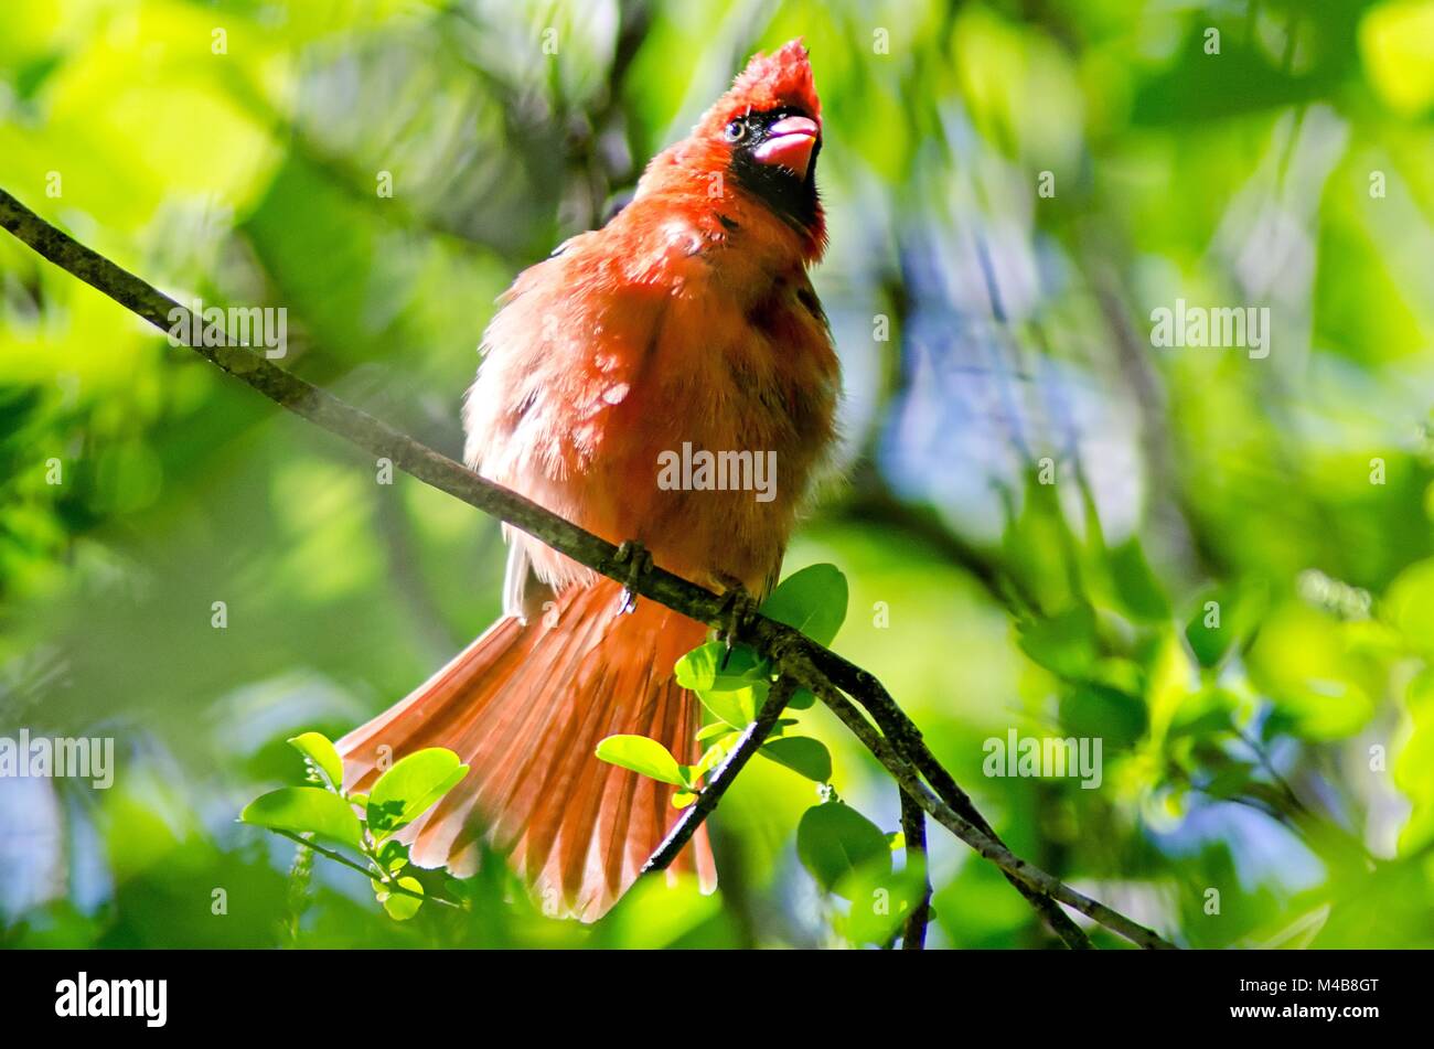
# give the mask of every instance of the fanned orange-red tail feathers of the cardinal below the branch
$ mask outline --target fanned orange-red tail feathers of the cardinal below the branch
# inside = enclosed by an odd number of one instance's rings
[[[509,854],[549,911],[594,920],[637,878],[681,815],[674,787],[598,761],[619,732],[697,760],[698,706],[673,664],[704,628],[641,602],[618,610],[601,580],[559,595],[543,619],[503,618],[412,695],[338,741],[344,784],[366,790],[390,761],[447,747],[467,778],[402,833],[413,863],[469,874],[482,838]],[[555,616],[555,618],[554,618]],[[387,767],[387,762],[384,762]],[[706,831],[673,871],[716,886]]]

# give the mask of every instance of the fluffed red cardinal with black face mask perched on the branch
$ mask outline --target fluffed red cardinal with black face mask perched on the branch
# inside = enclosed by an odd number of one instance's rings
[[[807,278],[826,246],[820,148],[802,42],[754,56],[652,159],[631,203],[502,297],[463,410],[469,466],[695,583],[769,592],[833,444],[840,388]],[[774,497],[661,484],[660,457],[684,443],[776,453]],[[594,920],[681,815],[675,788],[594,749],[631,732],[697,760],[700,708],[673,666],[706,626],[632,606],[621,583],[508,537],[503,616],[340,741],[344,785],[366,790],[380,754],[456,751],[472,771],[406,830],[412,861],[472,873],[486,834],[549,913]],[[716,886],[704,833],[677,870]]]

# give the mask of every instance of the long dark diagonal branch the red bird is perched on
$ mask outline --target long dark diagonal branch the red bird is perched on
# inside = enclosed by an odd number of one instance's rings
[[[185,307],[52,226],[3,189],[0,189],[0,226],[161,331],[169,332],[176,324],[182,325],[178,330],[191,330],[191,312]],[[284,371],[260,353],[241,345],[189,348],[281,407],[374,456],[389,459],[426,484],[505,520],[581,565],[627,585],[631,592],[708,626],[728,625],[727,605],[718,595],[657,566],[632,573],[630,565],[617,559],[618,547],[605,539],[579,529],[516,492],[478,476],[387,423]],[[800,631],[760,615],[751,619],[741,641],[753,643],[767,655],[779,675],[816,692],[856,732],[921,808],[982,857],[1001,867],[1008,877],[1034,890],[1035,896],[1028,899],[1041,909],[1048,921],[1053,921],[1058,934],[1061,920],[1067,924],[1070,920],[1043,897],[1054,897],[1140,946],[1172,946],[1149,929],[1081,896],[1054,876],[1012,856],[991,834],[981,830],[988,824],[975,813],[971,800],[922,742],[915,724],[868,671],[812,642]],[[872,728],[842,691],[855,696],[872,714],[891,741]],[[932,787],[941,797],[926,788],[921,781],[922,774],[932,778]],[[975,820],[962,813],[974,814]]]

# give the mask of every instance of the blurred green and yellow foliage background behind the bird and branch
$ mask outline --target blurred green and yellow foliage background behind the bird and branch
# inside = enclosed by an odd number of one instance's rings
[[[495,297],[753,50],[804,36],[846,480],[789,570],[847,575],[837,651],[1018,853],[1182,944],[1434,946],[1434,3],[3,21],[0,185],[182,301],[285,307],[285,367],[449,454]],[[1269,355],[1152,347],[1177,298],[1269,307]],[[718,896],[650,886],[594,929],[505,903],[496,871],[472,916],[400,924],[334,864],[300,891],[293,844],[235,821],[301,780],[285,737],[337,737],[482,631],[502,562],[492,520],[377,484],[0,239],[0,735],[108,735],[118,762],[108,791],[0,780],[0,942],[847,943],[793,844],[815,788],[766,761],[716,817]],[[889,781],[802,718],[895,830]],[[1011,728],[1100,735],[1100,790],[982,775]],[[932,843],[934,944],[1048,943],[994,867]]]

